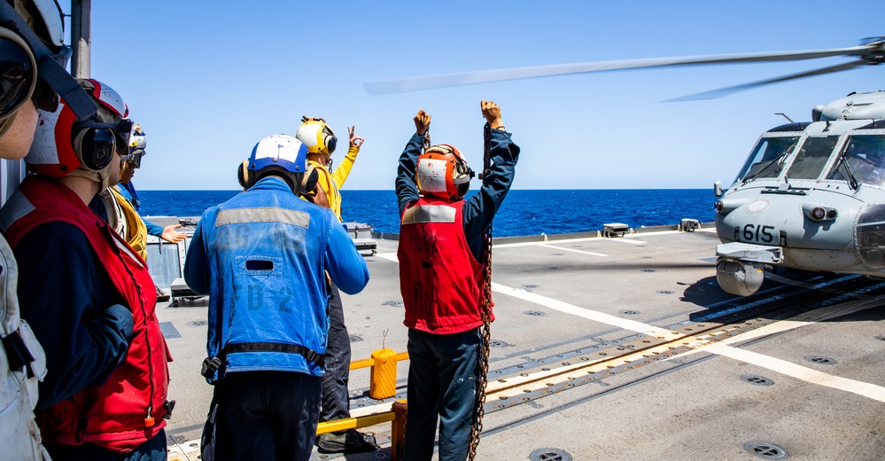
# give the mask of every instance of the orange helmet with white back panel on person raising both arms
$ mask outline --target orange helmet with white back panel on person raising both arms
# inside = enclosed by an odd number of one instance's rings
[[[418,191],[439,199],[461,199],[470,189],[473,170],[452,145],[434,145],[418,157],[415,179]]]

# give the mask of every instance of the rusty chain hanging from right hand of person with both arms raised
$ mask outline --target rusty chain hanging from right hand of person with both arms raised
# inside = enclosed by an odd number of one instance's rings
[[[491,163],[491,132],[489,124],[485,124],[484,129],[485,141],[485,158],[483,165],[483,180],[488,181],[488,170]],[[479,348],[479,364],[482,367],[477,377],[477,402],[473,411],[473,427],[470,431],[470,452],[468,459],[473,461],[477,456],[477,447],[479,446],[479,436],[483,432],[483,417],[485,416],[485,384],[488,380],[489,372],[489,341],[492,338],[490,326],[492,324],[492,224],[483,235],[483,246],[485,249],[485,280],[483,281],[483,303],[479,309],[479,315],[483,319],[483,343]]]

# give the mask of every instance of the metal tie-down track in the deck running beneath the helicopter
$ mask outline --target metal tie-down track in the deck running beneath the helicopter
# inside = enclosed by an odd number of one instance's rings
[[[885,283],[873,284],[858,276],[841,277],[823,284],[800,284],[803,291],[764,293],[761,301],[733,300],[743,306],[740,310],[721,309],[721,316],[703,316],[702,322],[685,321],[656,328],[652,333],[635,333],[618,340],[571,352],[489,371],[486,388],[485,412],[493,413],[519,404],[553,395],[584,384],[599,382],[614,374],[633,370],[643,365],[669,360],[690,352],[704,352],[711,345],[730,340],[754,340],[746,333],[760,331],[779,322],[796,322],[791,329],[837,315],[872,307],[876,297],[867,293],[885,291]],[[780,291],[790,287],[782,286]],[[813,293],[812,293],[813,292]],[[809,301],[819,293],[830,296],[825,300]],[[767,301],[766,301],[767,300]],[[853,300],[853,301],[851,301]],[[813,305],[817,309],[812,309]],[[762,333],[760,336],[767,336]],[[494,335],[494,333],[493,333]],[[743,335],[743,336],[741,336]],[[534,351],[537,352],[537,351]],[[404,389],[402,389],[404,391]],[[368,397],[356,399],[354,409],[382,408],[388,402],[403,398],[404,392],[384,401]],[[369,403],[371,402],[371,403]],[[368,405],[364,405],[369,403]],[[368,410],[368,409],[367,409]]]

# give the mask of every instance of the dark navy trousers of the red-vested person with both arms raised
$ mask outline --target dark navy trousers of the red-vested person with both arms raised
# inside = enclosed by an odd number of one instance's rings
[[[408,330],[408,416],[402,459],[431,459],[438,419],[439,461],[467,459],[482,341],[479,328],[455,334]]]

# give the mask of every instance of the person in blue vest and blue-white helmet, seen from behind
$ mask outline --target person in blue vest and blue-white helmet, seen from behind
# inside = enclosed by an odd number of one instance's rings
[[[338,218],[299,199],[307,147],[262,139],[245,192],[203,213],[185,281],[209,294],[204,376],[215,386],[204,459],[310,457],[320,412],[328,271],[359,293],[369,270]]]

